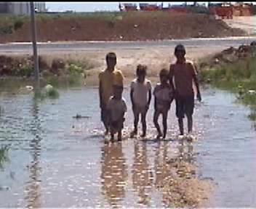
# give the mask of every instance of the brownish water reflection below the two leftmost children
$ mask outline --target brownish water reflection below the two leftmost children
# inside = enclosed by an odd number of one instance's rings
[[[105,144],[102,149],[102,191],[111,206],[119,206],[125,197],[128,177],[121,142]]]

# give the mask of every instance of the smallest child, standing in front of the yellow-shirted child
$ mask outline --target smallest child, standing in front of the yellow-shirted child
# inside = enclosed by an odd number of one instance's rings
[[[109,125],[111,131],[111,141],[114,134],[118,133],[118,141],[121,141],[121,131],[124,128],[124,113],[127,112],[127,105],[122,98],[123,86],[113,86],[113,97],[109,99],[107,109],[109,111]]]

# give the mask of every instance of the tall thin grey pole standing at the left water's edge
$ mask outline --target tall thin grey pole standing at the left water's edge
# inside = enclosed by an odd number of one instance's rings
[[[39,85],[39,57],[37,55],[37,46],[36,46],[35,7],[33,5],[33,1],[31,1],[30,4],[31,4],[31,32],[32,32],[32,42],[33,42],[33,65],[35,70],[36,83]]]

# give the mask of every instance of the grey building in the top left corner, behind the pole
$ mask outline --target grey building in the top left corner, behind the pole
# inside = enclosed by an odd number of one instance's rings
[[[34,2],[36,12],[46,12],[45,2]],[[0,14],[30,15],[30,2],[0,1]]]

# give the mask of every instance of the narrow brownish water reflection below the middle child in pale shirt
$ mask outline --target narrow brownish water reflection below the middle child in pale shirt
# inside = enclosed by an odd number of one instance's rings
[[[153,183],[153,174],[149,168],[147,144],[135,142],[134,159],[132,165],[132,185],[139,197],[140,204],[150,206],[151,188]]]

